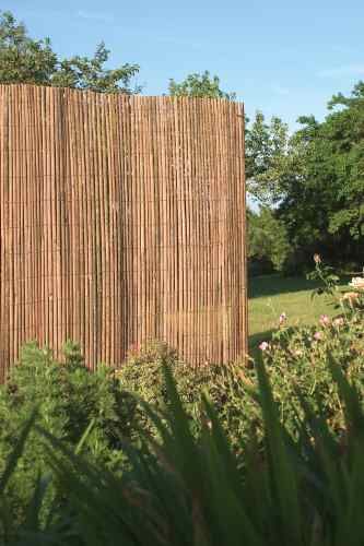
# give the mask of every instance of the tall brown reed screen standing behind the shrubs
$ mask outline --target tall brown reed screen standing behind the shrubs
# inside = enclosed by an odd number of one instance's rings
[[[244,118],[225,100],[0,85],[0,351],[246,349]]]

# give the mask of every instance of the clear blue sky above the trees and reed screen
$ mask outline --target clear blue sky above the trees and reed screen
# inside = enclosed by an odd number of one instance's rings
[[[11,0],[2,2],[61,56],[92,55],[102,39],[110,66],[140,64],[143,93],[210,70],[248,115],[262,110],[295,127],[319,119],[333,93],[364,79],[364,1]]]

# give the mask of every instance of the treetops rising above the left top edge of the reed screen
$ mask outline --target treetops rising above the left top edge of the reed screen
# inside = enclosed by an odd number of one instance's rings
[[[138,93],[138,64],[106,69],[109,51],[101,43],[93,58],[59,59],[49,38],[34,39],[10,12],[0,12],[0,83],[31,83],[105,93]]]

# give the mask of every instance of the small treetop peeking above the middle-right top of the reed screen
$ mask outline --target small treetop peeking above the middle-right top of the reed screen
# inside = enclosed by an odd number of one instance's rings
[[[188,74],[180,83],[175,82],[173,79],[169,80],[168,91],[173,97],[209,97],[225,98],[226,100],[234,100],[236,98],[235,93],[222,91],[219,76],[211,76],[208,70],[201,74]]]

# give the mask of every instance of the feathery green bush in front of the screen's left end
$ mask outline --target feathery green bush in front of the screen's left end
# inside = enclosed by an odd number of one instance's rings
[[[93,423],[84,452],[99,464],[115,465],[121,456],[120,437],[129,432],[121,399],[111,370],[90,372],[77,345],[68,343],[63,361],[58,361],[49,349],[27,344],[8,383],[0,387],[0,473],[35,406],[37,423],[73,450]],[[8,486],[12,517],[22,518],[38,475],[49,470],[44,441],[32,431]]]

